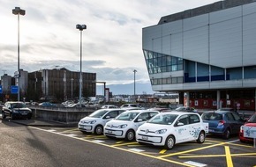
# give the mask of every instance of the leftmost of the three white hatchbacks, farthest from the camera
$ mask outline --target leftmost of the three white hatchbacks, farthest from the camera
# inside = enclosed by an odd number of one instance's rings
[[[109,120],[117,117],[120,113],[123,113],[124,109],[111,108],[100,109],[91,113],[89,116],[79,120],[78,128],[82,132],[89,132],[93,134],[102,134],[103,127]]]

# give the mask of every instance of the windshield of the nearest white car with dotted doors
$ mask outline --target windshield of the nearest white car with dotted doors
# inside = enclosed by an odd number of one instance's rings
[[[155,116],[153,119],[149,120],[148,123],[171,125],[176,118],[177,114],[162,114]]]

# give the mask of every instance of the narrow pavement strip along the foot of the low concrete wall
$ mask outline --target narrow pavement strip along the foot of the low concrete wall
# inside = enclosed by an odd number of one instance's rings
[[[2,114],[0,114],[0,120],[10,121],[17,123],[19,125],[31,126],[31,127],[78,127],[79,122],[65,123],[57,122],[52,120],[40,120],[40,119],[31,119],[31,120],[11,120],[11,119],[2,119]]]

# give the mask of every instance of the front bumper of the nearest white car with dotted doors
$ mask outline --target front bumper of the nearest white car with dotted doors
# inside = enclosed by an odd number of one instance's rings
[[[136,134],[136,141],[153,144],[155,146],[163,146],[165,137],[158,135]]]

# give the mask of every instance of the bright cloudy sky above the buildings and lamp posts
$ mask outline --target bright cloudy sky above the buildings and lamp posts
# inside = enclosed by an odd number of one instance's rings
[[[150,84],[142,52],[142,28],[157,25],[161,17],[186,11],[215,0],[0,0],[0,76],[14,76],[19,67],[80,69],[93,72],[106,84]],[[145,91],[145,90],[144,90]],[[149,90],[150,91],[150,90]],[[152,91],[152,90],[151,90]],[[131,93],[133,90],[131,89]]]

